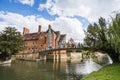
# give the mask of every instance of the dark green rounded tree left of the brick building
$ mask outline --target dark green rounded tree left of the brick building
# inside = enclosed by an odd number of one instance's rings
[[[23,49],[24,40],[15,27],[6,27],[0,33],[0,52],[2,57],[11,56]]]

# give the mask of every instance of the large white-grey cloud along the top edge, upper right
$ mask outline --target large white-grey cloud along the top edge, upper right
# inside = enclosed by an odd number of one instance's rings
[[[46,4],[40,4],[39,10],[47,9],[51,15],[82,16],[89,21],[97,21],[102,16],[109,15],[120,9],[120,0],[47,0]]]

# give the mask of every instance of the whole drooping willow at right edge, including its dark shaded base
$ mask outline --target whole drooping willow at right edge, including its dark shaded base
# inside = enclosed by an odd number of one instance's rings
[[[115,62],[120,61],[120,14],[117,14],[115,18],[112,19],[110,24],[107,40],[110,44],[109,51],[112,52],[113,59]]]

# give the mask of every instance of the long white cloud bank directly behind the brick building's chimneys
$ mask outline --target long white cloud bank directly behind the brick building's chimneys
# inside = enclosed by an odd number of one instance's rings
[[[0,30],[7,26],[14,26],[20,32],[22,32],[23,27],[29,28],[31,32],[36,32],[38,31],[38,25],[42,25],[42,31],[46,31],[49,24],[55,31],[67,34],[67,40],[72,37],[75,41],[83,42],[85,35],[82,24],[76,18],[58,17],[49,21],[35,15],[23,16],[17,13],[0,11]]]

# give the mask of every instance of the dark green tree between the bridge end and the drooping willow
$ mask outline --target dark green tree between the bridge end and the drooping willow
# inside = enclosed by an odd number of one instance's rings
[[[106,33],[106,21],[104,18],[99,18],[99,24],[90,24],[87,28],[85,43],[94,49],[105,49],[107,42]]]

